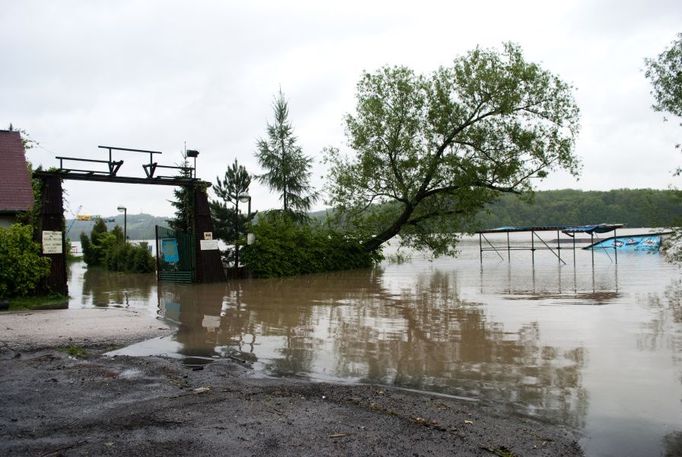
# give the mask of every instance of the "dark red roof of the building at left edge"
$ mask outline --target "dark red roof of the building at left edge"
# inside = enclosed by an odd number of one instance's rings
[[[27,211],[31,206],[33,189],[21,135],[0,130],[0,213]]]

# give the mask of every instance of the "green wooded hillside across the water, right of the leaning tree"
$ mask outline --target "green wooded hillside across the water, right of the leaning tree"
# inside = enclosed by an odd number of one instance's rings
[[[627,227],[679,224],[682,205],[672,190],[619,189],[608,192],[572,189],[536,192],[532,199],[503,195],[487,205],[468,230],[506,225],[587,225],[622,223]]]

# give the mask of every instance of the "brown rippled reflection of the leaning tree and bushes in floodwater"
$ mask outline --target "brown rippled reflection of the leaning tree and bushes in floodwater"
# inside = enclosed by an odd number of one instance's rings
[[[580,426],[581,347],[543,344],[537,322],[509,331],[463,301],[457,278],[420,274],[392,293],[381,270],[228,285],[163,285],[180,352],[239,353],[275,375],[362,380],[502,400]],[[286,293],[284,293],[286,291]]]

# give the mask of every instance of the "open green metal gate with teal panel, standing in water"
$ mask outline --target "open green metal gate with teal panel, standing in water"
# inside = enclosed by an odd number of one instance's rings
[[[191,283],[196,256],[192,233],[156,226],[156,262],[159,281]]]

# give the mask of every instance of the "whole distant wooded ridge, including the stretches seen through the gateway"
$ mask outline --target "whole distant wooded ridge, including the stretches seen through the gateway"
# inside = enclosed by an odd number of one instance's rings
[[[327,210],[310,213],[324,220]],[[112,229],[123,227],[123,215],[110,216]],[[168,227],[170,217],[151,214],[128,215],[128,237],[131,240],[154,238],[154,226]],[[682,225],[682,192],[652,189],[619,189],[607,192],[581,190],[549,190],[536,192],[532,202],[517,195],[504,195],[478,216],[472,231],[505,225],[586,225],[601,222],[622,223],[627,227],[670,227]],[[67,219],[71,227],[67,236],[77,241],[82,232],[90,234],[93,222]]]

